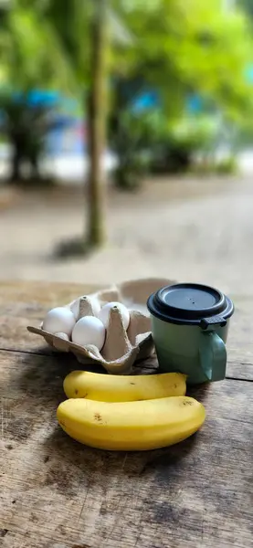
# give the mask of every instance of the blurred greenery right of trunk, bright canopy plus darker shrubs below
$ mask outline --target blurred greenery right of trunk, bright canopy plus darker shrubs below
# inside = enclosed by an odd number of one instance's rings
[[[227,9],[220,0],[156,0],[145,6],[139,0],[116,6],[130,29],[132,47],[114,54],[110,135],[121,160],[116,175],[122,186],[132,187],[136,177],[127,170],[138,174],[136,165],[139,172],[146,169],[143,148],[160,142],[160,151],[169,146],[172,164],[173,154],[182,166],[189,163],[199,141],[195,132],[180,141],[174,126],[188,116],[186,99],[191,95],[201,97],[211,116],[218,115],[227,125],[240,124],[252,112],[252,84],[245,68],[253,44],[243,12]],[[160,114],[133,111],[132,95],[147,89],[159,92]]]

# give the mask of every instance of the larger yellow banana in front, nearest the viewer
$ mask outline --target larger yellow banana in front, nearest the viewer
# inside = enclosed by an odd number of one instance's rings
[[[182,441],[205,421],[205,407],[192,397],[108,403],[83,398],[58,406],[58,423],[80,443],[109,450],[143,451]]]

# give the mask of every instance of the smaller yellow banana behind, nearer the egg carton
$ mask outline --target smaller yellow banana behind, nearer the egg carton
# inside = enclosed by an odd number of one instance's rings
[[[132,402],[169,395],[185,395],[186,376],[181,373],[119,376],[73,371],[63,383],[69,398],[86,397],[100,402]]]

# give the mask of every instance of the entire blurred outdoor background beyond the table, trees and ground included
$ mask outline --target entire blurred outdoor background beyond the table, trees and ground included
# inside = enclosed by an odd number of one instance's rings
[[[253,0],[0,0],[0,278],[253,293]]]

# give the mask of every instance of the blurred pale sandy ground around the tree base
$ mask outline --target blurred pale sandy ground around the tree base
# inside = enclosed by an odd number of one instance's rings
[[[249,178],[153,181],[136,195],[110,190],[107,209],[107,246],[59,261],[59,241],[84,231],[82,189],[22,193],[0,211],[0,278],[107,284],[165,276],[253,294]]]

